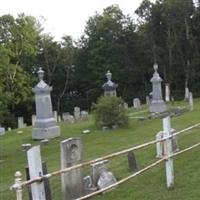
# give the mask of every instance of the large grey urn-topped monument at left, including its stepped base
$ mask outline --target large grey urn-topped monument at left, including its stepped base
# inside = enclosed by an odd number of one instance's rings
[[[39,68],[39,83],[32,89],[35,93],[36,102],[36,120],[32,129],[33,139],[49,139],[60,135],[60,127],[57,125],[52,112],[52,103],[50,93],[52,87],[49,87],[44,81],[44,71]]]

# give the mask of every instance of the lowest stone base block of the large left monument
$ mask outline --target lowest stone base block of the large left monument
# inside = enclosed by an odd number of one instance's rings
[[[50,139],[60,136],[60,127],[36,128],[32,130],[32,138],[36,140]]]

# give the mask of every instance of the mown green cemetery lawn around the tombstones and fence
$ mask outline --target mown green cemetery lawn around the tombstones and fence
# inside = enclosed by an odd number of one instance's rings
[[[183,102],[175,103],[174,106],[184,105]],[[179,117],[172,118],[172,127],[181,130],[195,123],[200,122],[200,100],[194,103],[194,111],[185,113]],[[144,110],[146,108],[143,108]],[[135,114],[134,114],[135,112]],[[144,116],[148,113],[137,113],[138,111],[129,110],[133,116]],[[96,129],[92,119],[76,124],[61,124],[61,137],[53,139],[48,146],[41,146],[42,159],[47,162],[48,171],[52,172],[60,169],[60,141],[69,137],[81,137],[84,145],[84,160],[94,159],[109,153],[117,152],[128,147],[142,144],[155,139],[158,131],[162,130],[162,120],[138,121],[131,119],[128,128],[109,130],[102,132]],[[91,134],[81,134],[83,129],[90,129]],[[24,167],[27,165],[26,154],[21,151],[21,144],[31,143],[39,145],[39,141],[31,139],[31,127],[21,129],[23,133],[17,133],[19,129],[7,132],[0,137],[0,199],[15,199],[15,193],[9,190],[14,182],[15,171],[23,173],[25,180]],[[200,129],[193,129],[192,134],[185,133],[178,137],[179,148],[191,146],[200,142]],[[155,145],[138,150],[135,152],[138,168],[142,169],[148,164],[156,161]],[[152,168],[148,172],[137,176],[127,183],[118,186],[116,189],[98,195],[93,199],[103,200],[197,200],[200,196],[200,148],[184,153],[174,158],[175,170],[175,189],[167,191],[165,180],[164,163]],[[119,156],[109,161],[109,169],[115,177],[120,180],[128,175],[127,156]],[[89,169],[85,169],[85,174]],[[61,199],[60,177],[53,177],[50,180],[54,200]],[[27,198],[27,190],[24,191],[24,199]]]

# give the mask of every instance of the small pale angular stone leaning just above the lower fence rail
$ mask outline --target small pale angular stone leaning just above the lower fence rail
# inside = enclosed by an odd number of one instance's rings
[[[103,189],[103,188],[106,188],[106,187],[116,183],[116,182],[117,182],[117,180],[114,177],[114,175],[112,174],[112,172],[102,172],[97,185],[98,185],[99,189]]]

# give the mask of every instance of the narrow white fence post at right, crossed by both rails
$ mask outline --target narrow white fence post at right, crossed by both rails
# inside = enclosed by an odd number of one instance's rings
[[[171,121],[170,116],[163,118],[163,132],[164,137],[169,137],[171,133]],[[164,154],[166,157],[172,155],[172,138],[166,139],[164,142]],[[172,190],[174,188],[174,169],[173,169],[173,159],[167,158],[165,162],[166,167],[166,178],[167,178],[167,188]]]

